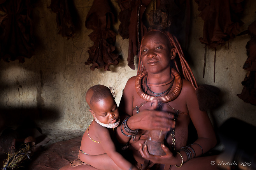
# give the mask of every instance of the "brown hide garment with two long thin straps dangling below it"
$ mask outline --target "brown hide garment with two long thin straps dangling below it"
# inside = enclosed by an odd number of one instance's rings
[[[239,19],[239,14],[243,11],[244,0],[195,0],[198,3],[199,14],[202,17],[203,37],[199,38],[206,48],[215,49],[214,55],[214,82],[215,82],[215,62],[216,48],[224,45],[226,41],[235,38],[239,33],[240,26],[244,23]],[[204,64],[205,65],[205,64]],[[205,66],[203,69],[203,77]]]

